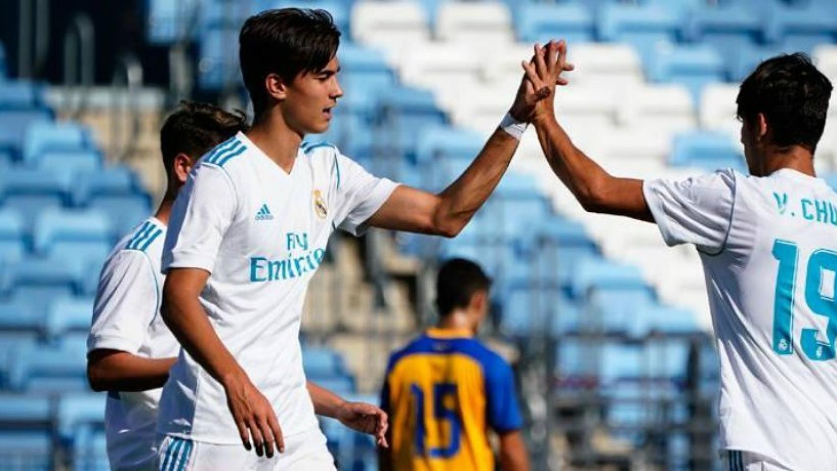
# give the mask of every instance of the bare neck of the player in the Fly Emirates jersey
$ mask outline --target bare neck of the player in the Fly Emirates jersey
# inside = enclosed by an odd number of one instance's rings
[[[285,172],[290,173],[294,168],[303,135],[290,128],[279,106],[274,106],[257,118],[247,132],[247,137]]]

